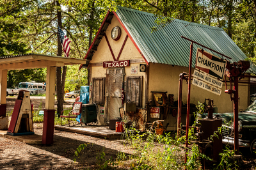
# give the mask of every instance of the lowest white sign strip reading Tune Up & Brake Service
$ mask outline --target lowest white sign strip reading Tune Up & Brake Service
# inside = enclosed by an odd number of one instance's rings
[[[197,79],[195,77],[193,78],[192,84],[198,86],[199,88],[210,91],[211,93],[214,93],[216,95],[221,95],[221,88],[218,88],[217,86],[212,86],[212,84],[208,84],[207,82],[201,81],[200,79]]]

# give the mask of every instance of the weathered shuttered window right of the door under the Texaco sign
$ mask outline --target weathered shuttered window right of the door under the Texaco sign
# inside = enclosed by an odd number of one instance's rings
[[[126,102],[135,102],[141,107],[142,76],[127,77],[126,79]]]

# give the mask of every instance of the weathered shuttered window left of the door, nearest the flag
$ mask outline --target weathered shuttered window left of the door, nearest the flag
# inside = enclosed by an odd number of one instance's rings
[[[105,77],[92,79],[92,102],[104,104]]]

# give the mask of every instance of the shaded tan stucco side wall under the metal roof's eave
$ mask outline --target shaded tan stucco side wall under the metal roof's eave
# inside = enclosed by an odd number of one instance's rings
[[[148,80],[149,100],[152,100],[152,93],[150,93],[150,91],[168,91],[167,94],[173,94],[174,100],[178,100],[179,74],[182,72],[188,72],[188,68],[183,66],[170,66],[150,63]],[[230,88],[229,83],[227,87]],[[244,110],[246,107],[248,107],[248,90],[248,84],[239,84],[239,109]],[[225,83],[223,83],[220,96],[191,84],[190,103],[197,105],[198,101],[203,103],[205,98],[211,98],[214,100],[214,105],[218,107],[218,112],[232,112],[232,101],[230,101],[230,95],[224,93],[224,91]],[[183,81],[182,102],[187,103],[187,98],[188,84],[186,84],[186,81]]]

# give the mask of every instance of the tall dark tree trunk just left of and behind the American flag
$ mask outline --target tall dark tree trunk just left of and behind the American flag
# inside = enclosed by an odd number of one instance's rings
[[[62,28],[61,22],[61,11],[60,11],[60,3],[56,1],[56,6],[59,8],[57,12],[58,26]],[[62,54],[62,46],[60,42],[60,38],[58,36],[58,56]],[[63,111],[63,90],[61,89],[61,67],[56,67],[56,88],[57,88],[57,114],[60,117],[61,111]]]

